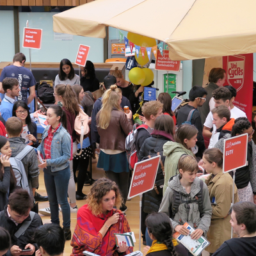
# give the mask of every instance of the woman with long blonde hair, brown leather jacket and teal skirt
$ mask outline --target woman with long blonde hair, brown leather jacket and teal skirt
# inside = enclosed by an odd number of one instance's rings
[[[125,152],[125,138],[132,131],[132,113],[124,113],[120,108],[122,94],[116,85],[104,92],[102,107],[96,116],[100,136],[100,155],[97,164],[103,168],[109,179],[116,182],[122,192],[124,203],[120,208],[126,211],[129,166]]]

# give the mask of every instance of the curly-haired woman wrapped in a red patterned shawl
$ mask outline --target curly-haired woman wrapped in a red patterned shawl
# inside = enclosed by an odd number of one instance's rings
[[[86,202],[77,212],[71,256],[83,256],[83,251],[102,256],[131,253],[133,248],[125,243],[116,246],[114,233],[124,234],[131,230],[125,215],[117,210],[122,197],[115,182],[106,178],[96,180]]]

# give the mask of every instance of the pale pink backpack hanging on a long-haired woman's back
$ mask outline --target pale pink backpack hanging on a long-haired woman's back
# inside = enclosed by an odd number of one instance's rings
[[[76,131],[76,134],[80,135],[80,145],[81,145],[80,152],[76,153],[77,156],[80,156],[82,154],[82,145],[83,145],[84,136],[85,135],[88,136],[90,132],[90,128],[88,125],[88,118],[89,116],[86,115],[86,113],[84,113],[82,109],[80,109],[80,112],[75,119],[74,129]]]

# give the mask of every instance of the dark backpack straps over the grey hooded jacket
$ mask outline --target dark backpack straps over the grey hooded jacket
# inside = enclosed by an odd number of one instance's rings
[[[173,176],[173,177],[175,177],[175,176]],[[172,180],[173,177],[171,177],[170,180]],[[188,200],[188,201],[180,200],[181,199],[180,193],[173,189],[172,205],[170,205],[170,207],[169,207],[169,216],[170,216],[170,218],[171,219],[174,218],[175,214],[179,210],[180,204],[183,204],[183,203],[184,204],[191,204],[193,202],[196,202],[196,204],[198,204],[198,209],[199,209],[199,212],[200,212],[200,218],[202,218],[202,215],[203,215],[203,187],[204,187],[204,181],[200,180],[200,191],[196,194],[195,199]]]

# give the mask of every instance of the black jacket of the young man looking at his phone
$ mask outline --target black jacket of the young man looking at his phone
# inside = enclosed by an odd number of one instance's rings
[[[30,216],[26,218],[24,221],[31,220]],[[23,221],[23,222],[24,222]],[[35,214],[33,221],[29,225],[28,229],[22,234],[18,239],[15,238],[14,234],[19,230],[19,228],[22,226],[22,223],[19,225],[15,225],[15,223],[10,220],[8,213],[7,213],[7,205],[4,207],[4,211],[0,212],[0,226],[8,230],[10,233],[10,236],[12,238],[12,246],[17,245],[20,249],[24,249],[27,244],[33,244],[35,246],[36,250],[38,250],[38,246],[36,243],[33,243],[33,235],[36,230],[36,228],[42,226],[42,220],[38,214]],[[6,253],[6,256],[11,256],[10,250]]]

